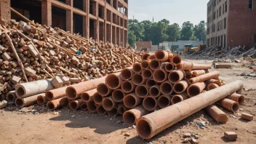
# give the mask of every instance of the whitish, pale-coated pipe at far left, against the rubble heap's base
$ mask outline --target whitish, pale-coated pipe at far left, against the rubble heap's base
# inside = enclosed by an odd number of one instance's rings
[[[17,84],[15,86],[15,92],[17,97],[28,97],[31,95],[37,95],[51,89],[54,89],[51,83],[51,79],[31,81],[27,83]]]

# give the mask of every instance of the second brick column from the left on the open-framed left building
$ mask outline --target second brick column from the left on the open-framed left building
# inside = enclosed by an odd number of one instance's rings
[[[41,1],[41,23],[52,26],[52,3],[49,0]]]

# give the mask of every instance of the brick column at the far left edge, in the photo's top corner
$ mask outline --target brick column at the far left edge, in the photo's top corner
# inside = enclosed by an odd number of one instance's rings
[[[11,19],[10,0],[0,0],[0,17]]]

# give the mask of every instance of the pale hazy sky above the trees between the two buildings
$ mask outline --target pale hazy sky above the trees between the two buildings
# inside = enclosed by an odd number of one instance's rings
[[[153,20],[167,19],[180,26],[185,21],[198,24],[207,21],[207,2],[209,0],[129,0],[129,19]]]

